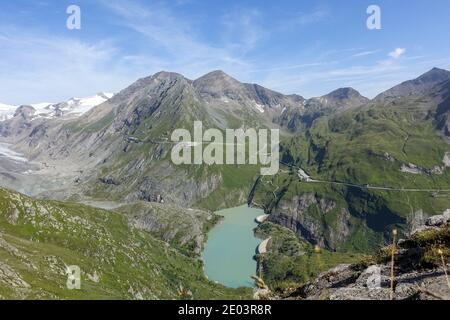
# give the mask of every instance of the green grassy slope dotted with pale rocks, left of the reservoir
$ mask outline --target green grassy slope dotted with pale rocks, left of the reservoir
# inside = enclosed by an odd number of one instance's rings
[[[65,266],[82,270],[67,290]],[[130,227],[118,213],[0,189],[0,298],[248,298],[209,282],[199,260]],[[98,282],[95,281],[98,276]],[[21,279],[23,282],[19,281]]]

